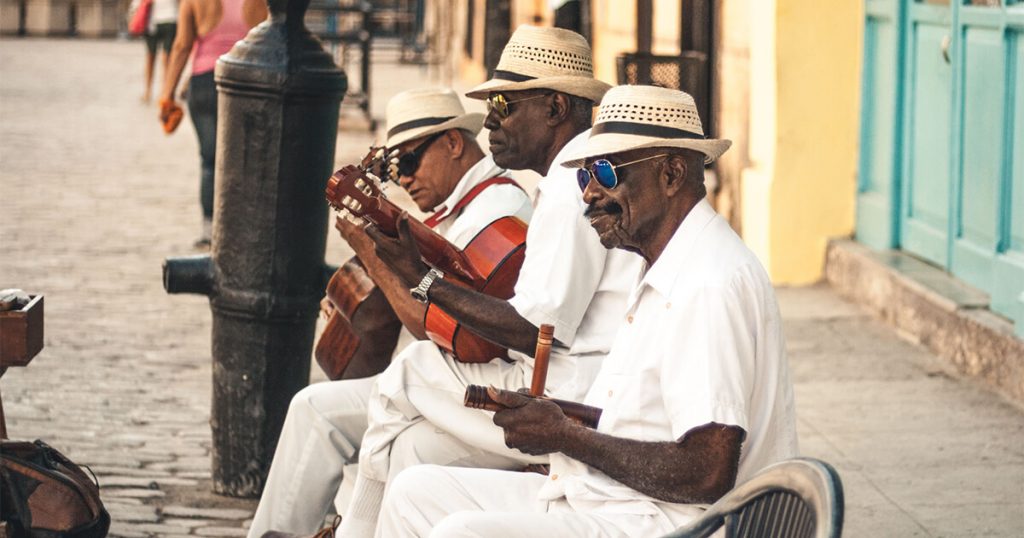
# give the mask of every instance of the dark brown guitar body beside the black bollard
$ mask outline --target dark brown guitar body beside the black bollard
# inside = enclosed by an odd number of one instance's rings
[[[353,257],[335,272],[327,286],[334,313],[316,342],[316,364],[332,381],[379,374],[391,362],[398,321],[384,293]]]

